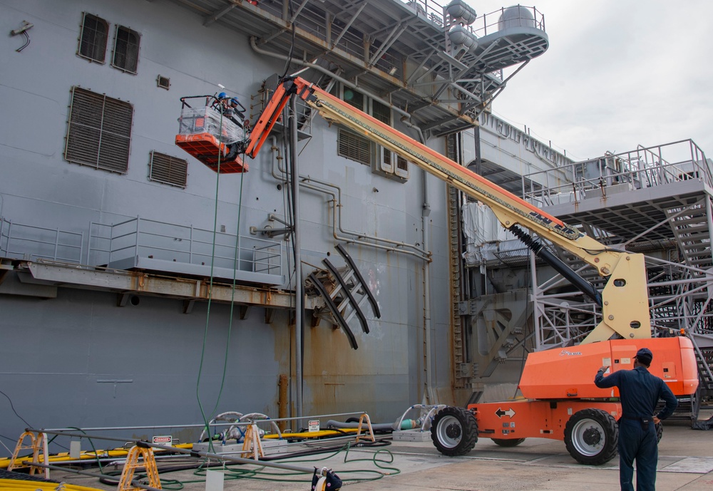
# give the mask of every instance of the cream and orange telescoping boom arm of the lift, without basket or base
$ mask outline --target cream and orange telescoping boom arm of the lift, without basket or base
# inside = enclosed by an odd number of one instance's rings
[[[252,128],[247,140],[246,155],[255,158],[260,152],[262,144],[292,94],[302,98],[323,118],[365,135],[426,172],[457,187],[466,195],[488,205],[504,227],[520,237],[538,256],[602,307],[602,322],[590,332],[583,343],[603,341],[613,334],[619,334],[623,338],[650,337],[646,268],[642,254],[605,247],[578,229],[568,227],[560,219],[539,210],[520,197],[302,78],[285,78],[279,83]],[[519,229],[518,225],[575,254],[595,267],[601,276],[608,276],[610,279],[604,291],[600,294],[592,284],[573,272],[540,242]],[[625,302],[620,301],[622,296],[626,297]],[[619,301],[612,301],[615,298]]]

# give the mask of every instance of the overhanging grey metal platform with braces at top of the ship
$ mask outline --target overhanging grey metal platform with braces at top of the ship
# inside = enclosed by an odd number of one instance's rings
[[[510,78],[549,46],[534,7],[476,16],[434,0],[172,1],[205,26],[247,33],[262,55],[391,105],[430,135],[476,126]]]

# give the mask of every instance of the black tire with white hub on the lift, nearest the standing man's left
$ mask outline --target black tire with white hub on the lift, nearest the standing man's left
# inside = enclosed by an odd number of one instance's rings
[[[565,425],[565,446],[580,464],[602,465],[618,453],[619,425],[601,409],[577,411]]]

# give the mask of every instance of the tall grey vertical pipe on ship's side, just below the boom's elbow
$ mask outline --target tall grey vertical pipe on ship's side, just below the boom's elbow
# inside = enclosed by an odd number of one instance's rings
[[[304,293],[302,290],[302,257],[299,253],[299,172],[297,172],[297,101],[292,94],[289,100],[289,160],[292,186],[292,238],[294,247],[294,377],[295,412],[302,418],[302,319]],[[302,425],[297,420],[297,425]]]

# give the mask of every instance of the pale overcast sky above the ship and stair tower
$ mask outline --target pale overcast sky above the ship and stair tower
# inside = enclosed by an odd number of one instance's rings
[[[468,3],[478,16],[511,5]],[[575,160],[688,138],[713,157],[713,0],[535,6],[550,47],[496,98],[498,117]]]

